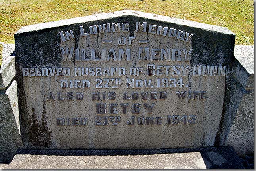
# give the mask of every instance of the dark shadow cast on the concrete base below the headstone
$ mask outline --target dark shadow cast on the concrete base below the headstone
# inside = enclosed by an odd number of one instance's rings
[[[200,152],[206,168],[243,168],[233,147],[179,148],[179,149],[116,149],[116,150],[30,150],[20,149],[17,154],[56,155],[56,156],[114,156],[152,155],[170,153]]]

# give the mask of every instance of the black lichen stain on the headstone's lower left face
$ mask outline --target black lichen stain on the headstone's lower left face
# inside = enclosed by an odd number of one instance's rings
[[[35,147],[46,147],[51,145],[51,134],[52,131],[48,129],[47,126],[47,116],[45,111],[45,100],[43,101],[43,112],[41,120],[36,117],[36,110],[31,108],[32,111],[32,124],[29,129],[29,141]]]

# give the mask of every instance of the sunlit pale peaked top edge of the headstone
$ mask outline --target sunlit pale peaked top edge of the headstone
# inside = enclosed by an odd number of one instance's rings
[[[88,15],[88,16],[84,16],[84,17],[77,17],[77,18],[71,18],[71,19],[65,19],[65,20],[59,20],[59,21],[52,21],[52,22],[48,22],[48,23],[39,23],[39,24],[35,24],[35,25],[29,25],[29,26],[25,26],[25,27],[22,27],[21,29],[19,29],[16,32],[16,34],[20,34],[20,33],[24,33],[24,32],[38,31],[38,30],[43,30],[43,29],[47,29],[47,28],[67,26],[67,25],[72,25],[72,24],[77,24],[77,23],[85,23],[85,22],[90,22],[90,21],[117,18],[117,17],[122,17],[122,16],[152,19],[152,20],[161,21],[161,22],[174,23],[177,25],[185,25],[185,26],[189,26],[189,27],[201,28],[204,30],[222,32],[224,34],[235,35],[233,32],[231,32],[229,29],[227,29],[225,27],[209,25],[209,24],[199,23],[199,22],[195,22],[195,21],[178,19],[178,18],[174,18],[174,17],[168,17],[168,16],[157,15],[157,14],[152,14],[152,13],[133,11],[133,10],[115,11],[115,12],[110,12],[110,13],[99,13],[99,14]]]

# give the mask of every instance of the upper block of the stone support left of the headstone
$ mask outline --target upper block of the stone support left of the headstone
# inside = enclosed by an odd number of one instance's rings
[[[11,80],[13,80],[16,74],[15,57],[12,55],[14,50],[14,44],[3,44],[3,60],[0,67],[0,89],[5,89],[10,84]]]

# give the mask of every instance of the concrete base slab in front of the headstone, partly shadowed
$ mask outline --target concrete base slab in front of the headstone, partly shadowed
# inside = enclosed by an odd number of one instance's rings
[[[244,168],[232,147],[152,150],[18,150],[3,169]]]

